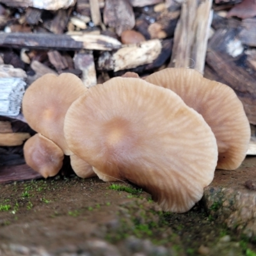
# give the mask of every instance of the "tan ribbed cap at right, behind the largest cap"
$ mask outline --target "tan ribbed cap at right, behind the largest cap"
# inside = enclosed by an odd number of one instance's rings
[[[205,79],[189,68],[166,68],[145,80],[177,93],[204,117],[216,136],[217,168],[234,170],[239,167],[246,156],[251,132],[243,104],[230,87]]]

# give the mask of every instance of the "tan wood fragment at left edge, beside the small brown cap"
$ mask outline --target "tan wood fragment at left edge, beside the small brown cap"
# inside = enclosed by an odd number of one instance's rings
[[[22,145],[24,140],[30,138],[28,132],[0,133],[0,146],[13,147]]]

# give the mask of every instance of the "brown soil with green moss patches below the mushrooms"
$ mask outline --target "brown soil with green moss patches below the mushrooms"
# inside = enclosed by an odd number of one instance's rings
[[[131,184],[56,177],[0,186],[0,244],[44,246],[50,252],[90,237],[119,244],[129,236],[172,248],[175,255],[256,255],[256,246],[230,232],[197,204],[185,214],[160,211]],[[218,205],[214,205],[218,207]],[[221,237],[229,237],[225,243]]]

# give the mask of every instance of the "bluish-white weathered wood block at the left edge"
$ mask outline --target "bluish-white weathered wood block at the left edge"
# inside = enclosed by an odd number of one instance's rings
[[[19,114],[26,83],[20,78],[0,79],[0,115]]]

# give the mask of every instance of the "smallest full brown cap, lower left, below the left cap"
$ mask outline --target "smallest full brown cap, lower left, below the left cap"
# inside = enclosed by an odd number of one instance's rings
[[[36,133],[24,144],[25,161],[43,177],[56,175],[63,164],[64,154],[54,142]]]

